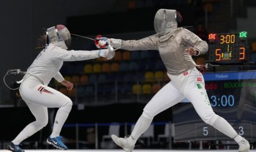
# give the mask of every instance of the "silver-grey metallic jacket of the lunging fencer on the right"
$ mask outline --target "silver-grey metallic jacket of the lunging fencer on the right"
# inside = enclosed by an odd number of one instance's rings
[[[190,47],[197,50],[199,54],[204,54],[208,50],[208,44],[205,41],[182,28],[178,28],[169,35],[163,35],[163,37],[154,35],[137,41],[121,42],[121,48],[125,50],[158,50],[170,75],[182,74],[196,66],[191,55],[186,51]]]

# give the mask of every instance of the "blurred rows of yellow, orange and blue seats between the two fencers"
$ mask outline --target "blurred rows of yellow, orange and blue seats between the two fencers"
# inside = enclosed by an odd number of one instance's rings
[[[74,66],[76,65],[76,66]],[[68,74],[65,80],[71,81],[77,88],[66,91],[60,88],[69,97],[84,97],[96,95],[96,91],[107,95],[106,91],[115,88],[118,83],[118,92],[122,94],[155,94],[162,87],[162,81],[169,81],[163,62],[155,50],[127,51],[118,50],[113,60],[104,61],[102,58],[85,61],[82,64],[65,65],[73,67],[74,74]],[[58,85],[57,82],[54,82]],[[99,85],[99,86],[95,86]]]

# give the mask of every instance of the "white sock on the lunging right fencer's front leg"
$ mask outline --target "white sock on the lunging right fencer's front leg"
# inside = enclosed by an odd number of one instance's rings
[[[146,130],[148,130],[149,125],[152,122],[152,119],[153,117],[147,117],[147,116],[145,117],[145,114],[143,112],[143,114],[140,116],[140,118],[138,119],[137,123],[133,128],[132,134],[127,140],[127,142],[130,145],[135,145],[135,143],[137,142],[141,134],[143,134]]]

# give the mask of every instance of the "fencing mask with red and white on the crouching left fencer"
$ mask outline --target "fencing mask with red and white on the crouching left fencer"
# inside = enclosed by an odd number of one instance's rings
[[[63,25],[50,27],[47,29],[49,43],[59,46],[62,49],[68,49],[71,46],[71,36],[69,30]]]

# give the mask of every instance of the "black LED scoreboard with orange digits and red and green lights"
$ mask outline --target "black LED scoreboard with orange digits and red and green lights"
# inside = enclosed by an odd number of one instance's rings
[[[247,57],[247,32],[208,35],[208,61],[241,63]]]

